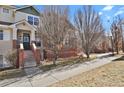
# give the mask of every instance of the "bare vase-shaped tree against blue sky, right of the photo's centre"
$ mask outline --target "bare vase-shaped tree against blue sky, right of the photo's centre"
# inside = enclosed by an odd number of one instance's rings
[[[91,50],[99,42],[104,31],[100,17],[92,6],[83,6],[82,10],[78,10],[75,15],[75,26],[79,31],[83,51],[89,58]]]

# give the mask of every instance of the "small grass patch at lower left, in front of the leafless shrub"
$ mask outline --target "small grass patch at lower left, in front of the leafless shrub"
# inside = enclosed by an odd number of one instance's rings
[[[24,70],[21,69],[5,70],[5,71],[0,71],[0,80],[17,78],[25,75],[26,73],[24,72]]]

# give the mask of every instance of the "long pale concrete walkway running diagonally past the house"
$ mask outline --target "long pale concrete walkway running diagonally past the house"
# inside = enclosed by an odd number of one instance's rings
[[[85,62],[82,64],[74,64],[71,66],[61,67],[55,70],[51,70],[43,73],[42,71],[33,77],[18,78],[16,81],[5,84],[0,82],[0,86],[7,87],[45,87],[58,81],[67,79],[69,77],[78,75],[82,72],[92,70],[94,68],[103,66],[112,62],[112,60],[119,58],[120,56],[97,58],[95,60]]]

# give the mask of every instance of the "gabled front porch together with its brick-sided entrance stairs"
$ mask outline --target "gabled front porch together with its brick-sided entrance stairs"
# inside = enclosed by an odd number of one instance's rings
[[[36,64],[40,64],[40,50],[37,49],[34,43],[36,42],[36,28],[24,20],[13,25],[12,36],[13,49],[17,49],[17,68],[24,68],[25,62],[27,62],[26,59],[30,59],[30,57],[34,58]],[[29,51],[30,54],[33,52],[32,56],[28,55],[25,58],[27,53],[24,50],[32,50]]]

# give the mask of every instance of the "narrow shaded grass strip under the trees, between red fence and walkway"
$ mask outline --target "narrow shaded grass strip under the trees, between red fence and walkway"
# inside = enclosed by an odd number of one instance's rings
[[[52,62],[50,64],[46,64],[46,65],[41,65],[39,66],[40,69],[42,69],[43,71],[49,71],[49,70],[52,70],[52,69],[56,69],[56,68],[59,68],[59,67],[64,67],[64,66],[67,66],[67,65],[73,65],[73,64],[78,64],[78,63],[83,63],[83,62],[86,62],[86,61],[90,61],[90,60],[93,60],[95,59],[95,57],[91,57],[89,59],[87,58],[70,58],[68,60],[63,60],[61,62],[58,62],[56,65],[54,65]]]

